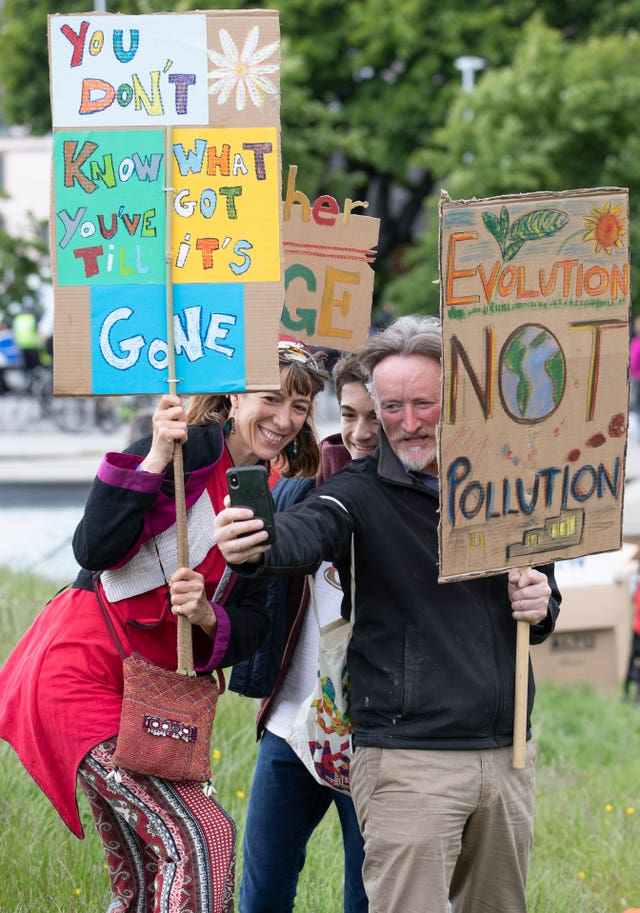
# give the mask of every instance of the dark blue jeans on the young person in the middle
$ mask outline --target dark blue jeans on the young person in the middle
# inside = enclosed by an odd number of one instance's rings
[[[344,910],[367,913],[364,848],[351,797],[316,783],[287,742],[268,731],[260,742],[249,797],[240,913],[293,910],[307,843],[332,802],[344,841]]]

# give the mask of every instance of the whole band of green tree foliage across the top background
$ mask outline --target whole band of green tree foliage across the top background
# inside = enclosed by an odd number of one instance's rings
[[[5,0],[5,118],[50,127],[46,15],[85,0]],[[179,0],[172,9],[198,7]],[[378,303],[437,310],[437,197],[635,186],[640,0],[262,0],[280,12],[283,169],[381,219]],[[115,4],[107,2],[107,8]],[[166,0],[121,0],[150,13]],[[472,93],[456,60],[486,61]],[[633,235],[636,229],[633,227]]]

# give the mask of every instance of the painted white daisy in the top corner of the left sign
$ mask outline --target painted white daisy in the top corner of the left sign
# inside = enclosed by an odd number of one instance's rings
[[[247,95],[256,106],[263,105],[264,94],[277,95],[278,87],[269,79],[267,73],[277,73],[277,63],[263,64],[262,61],[277,51],[279,41],[267,44],[257,50],[260,28],[251,26],[247,40],[238,54],[238,49],[229,32],[220,29],[220,44],[224,56],[217,51],[207,51],[209,60],[216,65],[215,70],[209,72],[212,85],[209,87],[210,95],[218,96],[218,104],[223,105],[233,90],[236,90],[236,110],[244,111],[247,104]]]

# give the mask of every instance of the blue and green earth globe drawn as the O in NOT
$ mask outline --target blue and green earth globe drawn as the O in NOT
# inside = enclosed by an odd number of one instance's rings
[[[566,382],[564,354],[540,324],[518,327],[500,353],[500,396],[517,422],[540,422],[557,409]]]

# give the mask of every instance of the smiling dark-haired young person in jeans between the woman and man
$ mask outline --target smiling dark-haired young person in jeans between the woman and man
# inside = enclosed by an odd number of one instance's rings
[[[332,373],[340,406],[340,433],[322,442],[317,479],[286,479],[274,488],[277,510],[302,500],[349,460],[378,445],[378,419],[365,388],[366,375],[353,354],[343,354]],[[330,562],[315,574],[320,624],[340,617],[342,590]],[[240,913],[289,913],[313,831],[335,804],[344,844],[345,913],[367,913],[362,883],[364,850],[351,797],[319,784],[290,748],[286,736],[318,670],[319,633],[305,577],[269,583],[271,631],[265,647],[236,665],[229,687],[264,698],[257,716],[260,740],[244,835]]]

